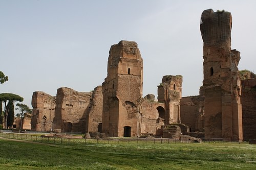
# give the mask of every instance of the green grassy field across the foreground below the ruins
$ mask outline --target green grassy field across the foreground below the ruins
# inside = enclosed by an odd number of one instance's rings
[[[0,169],[256,169],[247,143],[76,144],[0,139]]]

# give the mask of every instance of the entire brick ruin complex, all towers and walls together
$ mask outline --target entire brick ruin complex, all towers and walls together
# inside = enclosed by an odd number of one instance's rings
[[[231,50],[231,26],[229,12],[209,9],[202,13],[204,80],[200,95],[182,98],[182,76],[167,75],[158,85],[158,102],[153,94],[143,98],[143,59],[138,45],[122,40],[111,46],[108,75],[94,91],[61,87],[56,97],[34,92],[31,129],[118,137],[152,134],[172,138],[182,133],[228,141],[256,139],[252,130],[256,128],[256,79],[249,74],[240,79],[240,52]]]

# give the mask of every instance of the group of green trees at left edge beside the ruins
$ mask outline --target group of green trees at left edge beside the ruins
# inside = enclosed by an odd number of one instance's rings
[[[5,74],[0,71],[0,84],[7,81],[8,76],[5,76]],[[0,102],[0,125],[4,124],[5,129],[11,128],[14,123],[14,103],[23,102],[23,98],[13,93],[0,93]],[[31,114],[31,109],[27,105],[21,103],[17,103],[16,106],[16,110],[19,111],[16,116],[20,117],[20,129],[23,129],[24,116]]]

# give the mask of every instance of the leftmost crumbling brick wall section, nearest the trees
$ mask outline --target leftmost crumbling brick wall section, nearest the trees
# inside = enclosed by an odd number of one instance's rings
[[[42,91],[35,91],[32,95],[32,131],[52,130],[56,97]]]

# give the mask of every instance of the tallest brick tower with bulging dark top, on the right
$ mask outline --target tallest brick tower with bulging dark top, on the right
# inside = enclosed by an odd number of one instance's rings
[[[242,134],[240,52],[231,50],[229,12],[203,11],[200,30],[204,42],[205,138],[239,141]]]

